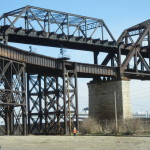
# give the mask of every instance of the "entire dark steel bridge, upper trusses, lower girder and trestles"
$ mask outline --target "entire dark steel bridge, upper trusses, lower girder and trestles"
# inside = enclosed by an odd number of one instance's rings
[[[78,128],[78,77],[150,79],[150,20],[125,29],[117,41],[102,19],[33,6],[4,13],[0,21],[2,135]],[[94,63],[47,57],[8,42],[90,51]],[[98,64],[101,53],[107,55]]]

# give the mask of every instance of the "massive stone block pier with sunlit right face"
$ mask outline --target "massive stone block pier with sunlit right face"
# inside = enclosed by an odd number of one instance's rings
[[[131,118],[130,81],[91,81],[89,88],[89,116],[96,120],[115,118],[115,96],[118,118]]]

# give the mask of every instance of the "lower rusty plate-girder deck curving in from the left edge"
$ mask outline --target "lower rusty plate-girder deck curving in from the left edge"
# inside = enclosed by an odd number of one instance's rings
[[[46,73],[46,74],[61,74],[63,61],[47,57],[44,55],[23,51],[12,46],[0,43],[0,57],[24,62],[27,71],[32,73]],[[75,62],[66,61],[67,65],[73,65]],[[78,77],[91,78],[94,76],[110,76],[115,77],[117,71],[115,67],[99,66],[93,64],[76,63]],[[41,69],[42,67],[42,69]]]

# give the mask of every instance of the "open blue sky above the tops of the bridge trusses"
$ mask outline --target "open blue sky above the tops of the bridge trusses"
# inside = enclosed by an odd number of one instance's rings
[[[123,29],[149,19],[149,4],[148,0],[4,0],[0,14],[32,5],[101,18],[118,38]]]

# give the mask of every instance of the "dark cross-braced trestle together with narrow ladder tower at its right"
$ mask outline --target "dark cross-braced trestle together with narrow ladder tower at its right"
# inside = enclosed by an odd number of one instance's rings
[[[76,67],[63,68],[63,76],[28,73],[28,133],[68,134],[78,128]]]

